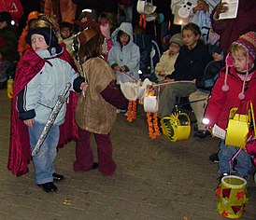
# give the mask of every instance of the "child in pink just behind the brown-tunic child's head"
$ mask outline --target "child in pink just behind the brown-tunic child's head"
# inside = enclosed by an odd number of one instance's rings
[[[117,21],[113,13],[102,12],[99,15],[98,22],[100,24],[101,34],[103,34],[105,37],[103,44],[103,55],[107,61],[108,52],[113,47],[111,34],[116,29]]]

